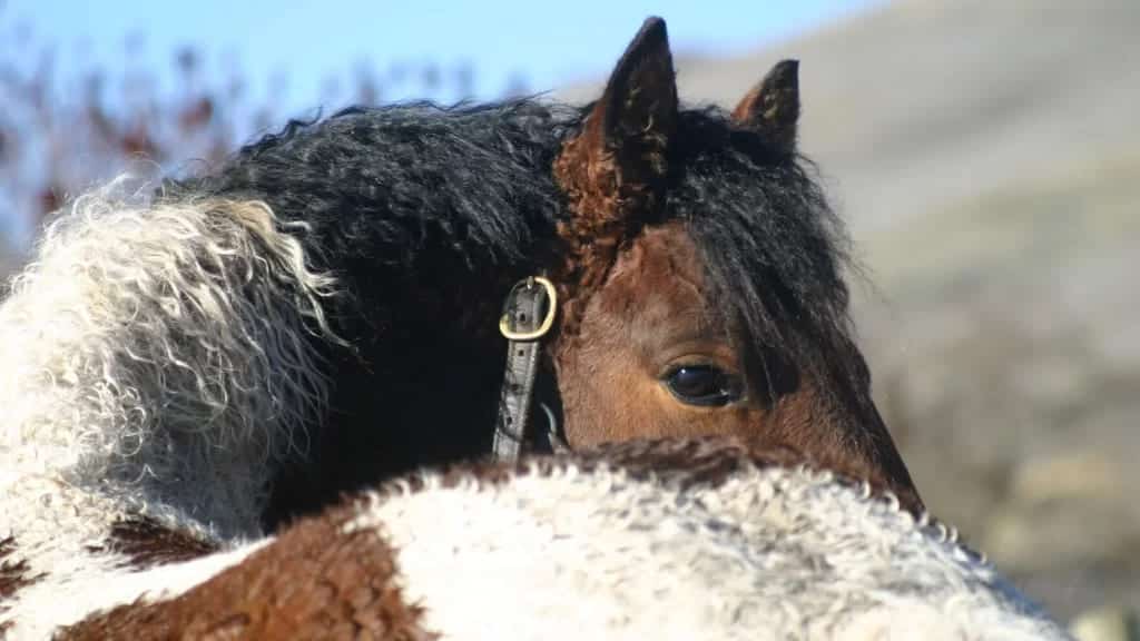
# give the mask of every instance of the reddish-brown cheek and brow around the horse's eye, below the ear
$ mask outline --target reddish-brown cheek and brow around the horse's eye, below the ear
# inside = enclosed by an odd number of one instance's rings
[[[571,445],[764,433],[772,407],[748,389],[703,281],[677,225],[645,230],[618,255],[556,360]]]

